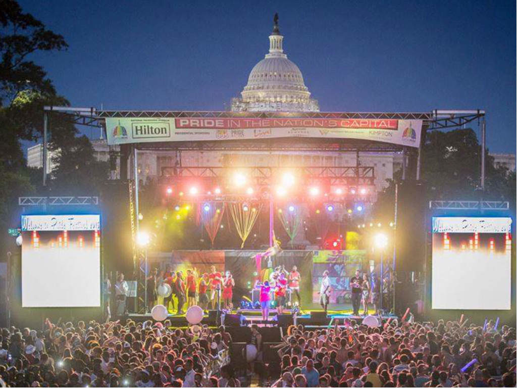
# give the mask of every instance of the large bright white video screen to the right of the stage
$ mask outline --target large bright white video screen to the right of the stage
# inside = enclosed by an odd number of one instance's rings
[[[510,309],[511,222],[433,217],[433,309]]]

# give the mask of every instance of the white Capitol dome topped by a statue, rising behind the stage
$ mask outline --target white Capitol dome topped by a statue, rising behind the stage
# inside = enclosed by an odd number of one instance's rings
[[[311,93],[303,83],[300,69],[284,54],[278,14],[273,21],[269,54],[251,70],[241,97],[232,98],[232,111],[319,112],[318,102],[310,98]]]

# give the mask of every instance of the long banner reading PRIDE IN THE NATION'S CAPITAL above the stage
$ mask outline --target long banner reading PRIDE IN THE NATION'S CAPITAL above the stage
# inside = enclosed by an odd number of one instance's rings
[[[108,144],[274,138],[362,139],[418,147],[421,120],[107,117]]]

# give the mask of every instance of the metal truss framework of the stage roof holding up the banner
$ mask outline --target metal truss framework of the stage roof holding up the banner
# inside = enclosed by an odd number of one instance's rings
[[[220,112],[220,111],[149,111],[149,110],[119,110],[105,111],[96,108],[73,108],[73,107],[44,107],[44,136],[43,136],[43,185],[46,181],[46,152],[47,152],[47,132],[48,132],[48,113],[63,115],[68,121],[77,125],[102,128],[105,131],[105,118],[107,117],[307,117],[307,118],[343,118],[343,119],[394,119],[394,120],[422,120],[422,141],[425,139],[425,132],[435,129],[447,129],[466,125],[471,122],[481,122],[482,128],[482,148],[485,149],[485,112],[484,110],[433,110],[431,112]],[[421,144],[420,144],[421,146]],[[229,141],[182,141],[182,142],[157,142],[143,144],[125,144],[120,147],[125,150],[124,155],[132,155],[133,161],[133,180],[129,182],[131,195],[131,232],[133,235],[133,247],[135,232],[139,230],[138,220],[138,169],[136,168],[136,158],[138,151],[281,151],[281,152],[403,152],[403,178],[406,177],[406,155],[415,152],[408,150],[404,146],[354,139],[310,139],[310,138],[283,138],[283,139],[261,139],[256,140],[229,140]],[[130,152],[132,150],[132,152]],[[420,147],[416,152],[416,179],[420,176]],[[484,152],[482,153],[481,167],[481,187],[484,188]],[[126,159],[127,160],[127,159]],[[126,165],[124,165],[126,166]],[[122,166],[121,166],[122,169]],[[217,176],[220,168],[183,168],[166,167],[163,172],[174,172],[173,176]],[[341,167],[341,170],[333,168],[319,168],[320,171],[311,170],[312,167],[305,168],[309,175],[322,174],[336,182],[348,182],[349,178],[358,184],[360,179],[363,182],[373,183],[373,167]],[[318,169],[318,167],[316,167]],[[339,168],[338,168],[339,169]],[[370,170],[371,169],[371,170]],[[256,170],[257,180],[266,182],[271,175],[269,171]],[[347,176],[352,172],[352,176]],[[371,176],[368,174],[371,172]],[[178,175],[179,174],[179,175]],[[265,174],[261,176],[261,174]],[[134,190],[134,192],[133,192]],[[134,201],[134,203],[133,203]],[[147,258],[144,249],[138,249],[138,255],[133,252],[133,260],[138,256],[139,291],[143,289],[147,270]],[[137,261],[137,260],[135,260]],[[136,264],[136,263],[135,263]],[[136,265],[135,265],[136,266]],[[136,270],[136,268],[135,268]],[[139,292],[139,294],[141,294]],[[145,297],[145,296],[144,296]],[[142,311],[144,303],[138,301],[138,310]]]

